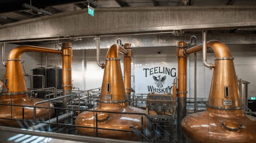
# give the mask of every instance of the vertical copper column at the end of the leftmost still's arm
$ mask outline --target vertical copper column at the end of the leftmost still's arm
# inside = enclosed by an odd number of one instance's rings
[[[61,45],[61,55],[62,55],[62,86],[63,86],[63,96],[72,94],[72,56],[73,49],[72,44],[67,42]],[[67,108],[70,101],[69,97],[63,98],[63,107]]]

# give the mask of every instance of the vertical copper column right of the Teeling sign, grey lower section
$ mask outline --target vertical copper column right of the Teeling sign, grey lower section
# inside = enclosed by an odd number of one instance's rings
[[[187,55],[184,54],[186,42],[178,42],[177,45],[177,141],[185,142],[180,124],[187,114]]]

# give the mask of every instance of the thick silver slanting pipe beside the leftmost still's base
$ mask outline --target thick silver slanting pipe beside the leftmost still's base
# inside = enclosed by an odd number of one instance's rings
[[[55,118],[52,118],[50,120],[47,120],[46,122],[43,122],[43,123],[40,123],[40,124],[37,124],[37,125],[32,125],[30,128],[28,129],[33,129],[33,130],[38,130],[38,129],[42,129],[44,127],[46,127],[47,125],[51,124],[51,123],[57,123],[57,122],[60,122],[62,120],[65,120],[67,119],[69,116],[71,116],[73,114],[73,112],[67,112],[63,115],[60,115],[60,116],[57,116]]]

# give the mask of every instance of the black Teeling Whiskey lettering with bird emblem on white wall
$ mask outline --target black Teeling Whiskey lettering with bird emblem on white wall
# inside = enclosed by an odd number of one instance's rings
[[[148,92],[155,93],[166,93],[171,92],[172,86],[164,87],[165,81],[167,77],[175,77],[176,76],[176,68],[167,68],[167,67],[152,67],[152,68],[143,68],[145,71],[145,77],[148,75],[152,75],[156,88],[153,85],[147,85]],[[159,73],[165,75],[159,75]],[[154,76],[157,74],[156,76]]]

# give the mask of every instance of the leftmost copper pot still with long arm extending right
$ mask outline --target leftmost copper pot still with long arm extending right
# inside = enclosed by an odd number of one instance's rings
[[[36,46],[18,46],[11,50],[6,63],[5,79],[1,93],[0,125],[8,127],[27,128],[32,122],[45,121],[53,115],[52,103],[36,105],[42,99],[30,98],[27,95],[27,86],[23,76],[20,57],[24,52],[37,51],[42,53],[60,54],[59,50]],[[44,107],[44,108],[40,108]]]

